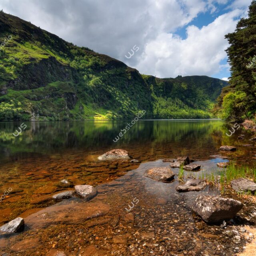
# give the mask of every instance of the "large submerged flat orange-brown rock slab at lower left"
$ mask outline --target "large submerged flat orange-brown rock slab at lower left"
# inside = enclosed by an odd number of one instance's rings
[[[106,215],[110,210],[107,204],[72,203],[47,207],[25,218],[29,228],[43,228],[54,224],[81,224],[91,218]]]

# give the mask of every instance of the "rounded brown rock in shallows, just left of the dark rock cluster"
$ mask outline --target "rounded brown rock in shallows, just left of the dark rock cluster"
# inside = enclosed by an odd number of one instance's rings
[[[149,177],[152,180],[168,182],[173,180],[175,174],[168,167],[160,167],[147,170],[144,173],[144,176]]]

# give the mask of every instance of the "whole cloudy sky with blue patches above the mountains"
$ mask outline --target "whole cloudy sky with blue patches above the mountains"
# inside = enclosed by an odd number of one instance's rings
[[[225,35],[251,0],[0,0],[4,12],[160,78],[228,80]]]

